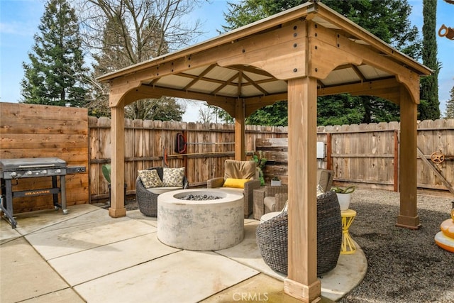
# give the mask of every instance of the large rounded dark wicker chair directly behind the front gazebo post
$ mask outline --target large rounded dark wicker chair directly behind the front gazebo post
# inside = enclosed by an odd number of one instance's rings
[[[281,214],[260,224],[257,245],[265,263],[287,275],[288,214]],[[336,267],[341,253],[342,219],[336,192],[317,197],[317,275]]]

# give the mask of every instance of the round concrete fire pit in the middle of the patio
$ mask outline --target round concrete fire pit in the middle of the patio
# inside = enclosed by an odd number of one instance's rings
[[[186,200],[193,196],[220,199]],[[181,189],[157,197],[157,238],[188,250],[221,250],[243,241],[243,195],[219,189]]]

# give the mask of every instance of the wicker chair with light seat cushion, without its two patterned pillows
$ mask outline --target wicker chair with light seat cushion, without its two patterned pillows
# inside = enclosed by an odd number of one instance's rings
[[[151,167],[148,168],[148,170],[156,170],[157,175],[159,175],[160,180],[162,180],[164,175],[163,167]],[[137,200],[137,204],[142,214],[145,214],[145,216],[157,216],[157,196],[171,190],[187,189],[187,187],[189,187],[189,183],[187,182],[186,175],[183,176],[181,185],[150,188],[145,188],[139,176],[135,180],[135,199]]]

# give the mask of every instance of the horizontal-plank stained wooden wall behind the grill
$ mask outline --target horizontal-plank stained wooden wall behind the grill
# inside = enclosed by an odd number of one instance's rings
[[[89,202],[87,109],[1,102],[0,116],[1,158],[56,157],[69,166],[82,165],[87,172],[66,176],[67,206]],[[20,179],[13,191],[52,187],[51,180]],[[13,199],[14,213],[52,208],[52,195]]]

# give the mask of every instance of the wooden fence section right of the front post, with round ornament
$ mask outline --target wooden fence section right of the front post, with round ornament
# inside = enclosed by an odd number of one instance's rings
[[[326,133],[327,162],[338,182],[398,191],[399,123],[319,127]],[[421,190],[454,194],[454,119],[418,123],[417,183]],[[433,162],[443,154],[443,162]]]

